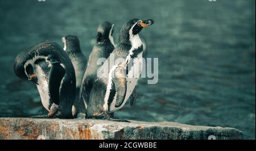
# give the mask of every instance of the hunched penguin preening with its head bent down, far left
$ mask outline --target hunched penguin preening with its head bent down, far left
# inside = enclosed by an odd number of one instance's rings
[[[49,112],[31,118],[73,118],[75,69],[59,44],[46,41],[20,51],[14,61],[14,72],[20,79],[36,84],[42,104]]]

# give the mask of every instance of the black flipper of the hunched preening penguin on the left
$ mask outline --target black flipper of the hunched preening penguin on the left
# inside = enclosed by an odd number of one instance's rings
[[[65,69],[60,63],[52,64],[49,74],[49,94],[55,104],[60,103],[60,84],[65,75]]]

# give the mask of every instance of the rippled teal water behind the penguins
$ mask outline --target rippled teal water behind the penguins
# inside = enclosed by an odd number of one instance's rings
[[[159,58],[159,82],[140,79],[138,100],[119,118],[233,127],[255,139],[255,1],[0,0],[0,116],[45,114],[36,86],[13,72],[16,54],[44,40],[80,38],[88,56],[98,23],[154,19],[141,33]]]

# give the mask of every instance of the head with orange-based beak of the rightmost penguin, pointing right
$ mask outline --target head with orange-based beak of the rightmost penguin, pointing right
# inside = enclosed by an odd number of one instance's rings
[[[141,19],[131,19],[129,22],[123,24],[121,31],[119,33],[119,43],[130,43],[130,37],[138,35],[138,33],[147,26],[154,24],[154,20],[141,20]]]

